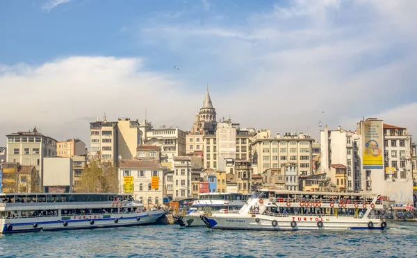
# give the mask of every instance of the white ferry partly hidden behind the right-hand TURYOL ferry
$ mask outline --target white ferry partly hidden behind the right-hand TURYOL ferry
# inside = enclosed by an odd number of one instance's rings
[[[181,227],[205,226],[202,215],[237,212],[248,198],[249,196],[243,193],[199,193],[191,208],[187,212],[183,210],[182,214],[177,216],[177,221]]]

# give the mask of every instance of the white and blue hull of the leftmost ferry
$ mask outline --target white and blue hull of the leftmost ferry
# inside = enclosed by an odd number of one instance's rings
[[[149,225],[165,213],[161,211],[135,214],[92,214],[86,216],[50,216],[4,218],[0,220],[2,234],[55,230],[81,230],[102,227],[129,227]]]

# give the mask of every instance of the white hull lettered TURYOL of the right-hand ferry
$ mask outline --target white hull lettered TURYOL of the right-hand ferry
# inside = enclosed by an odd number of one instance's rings
[[[221,216],[203,216],[202,220],[207,227],[214,230],[384,230],[386,227],[386,223],[381,219],[334,216],[275,217],[222,214]]]

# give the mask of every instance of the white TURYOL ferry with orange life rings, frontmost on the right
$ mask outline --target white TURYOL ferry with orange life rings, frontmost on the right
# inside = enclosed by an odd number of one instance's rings
[[[239,212],[202,220],[215,230],[384,230],[383,208],[379,194],[263,189]]]

